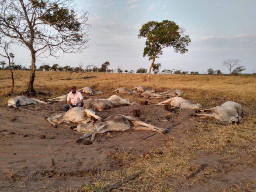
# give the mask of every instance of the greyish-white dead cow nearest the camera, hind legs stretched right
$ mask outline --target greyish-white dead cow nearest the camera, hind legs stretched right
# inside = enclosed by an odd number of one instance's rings
[[[158,128],[151,124],[146,124],[136,118],[130,116],[124,116],[120,114],[109,116],[104,119],[103,122],[94,122],[93,124],[81,123],[77,127],[73,127],[73,130],[85,133],[83,137],[79,138],[77,142],[82,142],[85,138],[91,137],[90,142],[94,141],[96,133],[103,134],[107,131],[125,131],[130,128],[134,130],[148,130],[158,133],[165,133],[165,129]]]

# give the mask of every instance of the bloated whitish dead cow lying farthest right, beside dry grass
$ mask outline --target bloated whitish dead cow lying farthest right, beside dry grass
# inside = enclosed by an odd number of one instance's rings
[[[242,116],[244,111],[242,106],[232,101],[227,101],[221,106],[216,106],[210,109],[197,110],[196,112],[206,112],[202,114],[196,114],[197,116],[210,116],[220,121],[226,121],[232,124],[243,122]]]

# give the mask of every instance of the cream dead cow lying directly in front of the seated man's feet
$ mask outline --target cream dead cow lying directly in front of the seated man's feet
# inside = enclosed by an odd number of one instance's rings
[[[90,109],[85,109],[83,107],[73,107],[67,112],[58,113],[52,117],[46,118],[46,120],[50,122],[50,124],[52,124],[55,128],[57,128],[57,125],[54,122],[57,122],[58,124],[62,122],[66,122],[66,123],[94,122],[94,120],[91,120],[91,117],[94,117],[95,119],[102,121],[102,118],[97,116],[94,111]]]

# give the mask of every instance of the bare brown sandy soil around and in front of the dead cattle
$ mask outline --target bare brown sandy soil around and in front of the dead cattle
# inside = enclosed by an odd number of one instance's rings
[[[96,98],[107,96],[97,96]],[[150,102],[160,100],[150,100]],[[111,132],[108,135],[96,136],[95,142],[91,145],[77,144],[76,140],[82,133],[75,132],[68,125],[60,124],[54,128],[44,117],[58,112],[63,112],[65,102],[55,102],[52,104],[36,104],[29,106],[20,106],[14,108],[0,108],[0,191],[41,191],[44,186],[47,189],[54,188],[76,188],[81,184],[89,184],[91,175],[97,174],[97,169],[116,170],[122,168],[122,164],[109,158],[110,152],[115,150],[130,150],[133,153],[146,153],[152,148],[160,147],[164,140],[173,136],[182,138],[184,130],[188,130],[196,123],[190,114],[191,110],[182,110],[176,118],[180,125],[175,126],[170,134],[156,134],[146,140],[142,138],[152,134],[148,131],[127,130],[125,132]],[[132,109],[141,110],[140,120],[162,127],[158,116],[166,116],[168,112],[163,106],[121,106],[97,112],[98,116],[106,118],[112,114],[124,114],[132,116]],[[164,127],[172,124],[171,120],[162,117]],[[45,138],[44,138],[44,136]],[[99,140],[100,138],[100,140]],[[235,182],[236,178],[240,180],[251,181],[256,173],[253,169],[239,165],[240,174],[236,170],[228,170],[232,164],[231,159],[221,159],[218,154],[202,155],[200,159],[192,160],[197,164],[209,163],[214,166],[220,162],[223,164],[220,173],[225,182]],[[54,159],[54,166],[52,166]],[[12,170],[16,174],[12,178]],[[59,177],[45,177],[44,172],[59,174]],[[64,174],[64,176],[63,176]],[[246,175],[246,176],[244,176]],[[218,175],[219,176],[219,175]],[[217,173],[211,174],[209,180],[216,184]],[[172,181],[178,182],[178,181]],[[222,186],[222,183],[217,183]],[[182,188],[184,190],[195,190],[191,188]],[[201,191],[210,190],[209,187],[196,189]]]

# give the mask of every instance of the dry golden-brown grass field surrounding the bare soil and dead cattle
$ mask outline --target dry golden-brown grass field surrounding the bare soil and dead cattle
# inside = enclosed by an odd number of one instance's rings
[[[71,74],[70,77],[75,78],[78,75]],[[129,147],[111,148],[110,146],[106,152],[106,161],[108,159],[108,161],[114,162],[114,168],[110,166],[102,169],[97,175],[96,166],[87,167],[87,169],[96,169],[96,171],[91,171],[86,176],[88,182],[71,186],[67,183],[70,180],[75,180],[75,177],[64,177],[58,174],[52,178],[42,179],[28,177],[24,181],[22,180],[24,177],[15,174],[19,172],[20,175],[24,175],[22,170],[14,170],[10,165],[5,167],[5,172],[0,172],[0,180],[2,179],[2,184],[0,181],[0,191],[102,191],[106,186],[140,170],[143,170],[144,173],[122,184],[118,190],[125,192],[256,191],[255,77],[159,74],[152,75],[152,79],[148,81],[144,74],[88,73],[85,75],[94,76],[95,78],[61,80],[67,78],[69,73],[36,71],[34,89],[41,92],[51,91],[53,93],[52,97],[56,97],[67,94],[70,85],[75,85],[78,88],[90,86],[103,91],[105,98],[112,95],[112,90],[121,86],[133,88],[143,85],[154,88],[157,92],[163,92],[167,89],[180,89],[184,91],[183,98],[201,103],[203,108],[220,105],[228,100],[238,102],[244,108],[244,122],[238,125],[224,126],[214,123],[212,118],[185,116],[193,112],[185,110],[180,112],[180,116],[177,117],[177,120],[182,122],[181,126],[175,126],[172,132],[164,137],[158,135],[155,138],[152,137],[143,141],[145,144],[148,142],[148,145],[150,145],[150,142],[156,142],[156,146],[150,146],[142,152],[134,150],[140,144],[139,142],[136,143],[135,140],[134,143],[130,142]],[[15,94],[18,95],[26,90],[28,76],[29,71],[14,71]],[[0,70],[0,80],[0,104],[2,108],[0,115],[4,116],[3,113],[7,112],[5,102],[10,98],[6,96],[11,86],[9,71]],[[119,95],[122,98],[129,98],[133,102],[144,100],[143,98],[137,98],[135,95]],[[38,96],[38,98],[41,100],[47,99],[44,96]],[[149,100],[152,103],[162,101],[160,99]],[[153,108],[152,104],[149,106],[151,106],[151,110],[156,108],[156,106]],[[158,108],[163,107],[158,106]],[[36,116],[36,112],[33,115]],[[150,116],[150,114],[147,115]],[[150,118],[157,119],[157,117],[152,116]],[[196,119],[209,120],[209,123],[198,122]],[[165,124],[167,125],[168,122],[165,122]],[[44,127],[41,128],[44,129]],[[50,128],[49,130],[58,132],[59,129]],[[62,132],[59,134],[62,134]],[[118,133],[115,136],[121,136],[122,134]],[[2,132],[0,132],[0,138],[2,145],[5,140]],[[62,142],[64,143],[64,141]],[[74,147],[73,150],[77,147],[77,144],[72,142],[69,145]],[[104,145],[104,142],[102,145]],[[79,146],[79,150],[85,151],[85,156],[87,147],[89,146]],[[54,158],[57,158],[57,156]],[[5,159],[2,156],[0,160]],[[208,164],[208,166],[192,178],[186,177],[197,170],[201,164]],[[30,165],[26,166],[29,169]],[[38,178],[38,176],[36,177]],[[58,186],[51,185],[53,180],[61,184]],[[30,182],[35,183],[34,187],[36,187],[29,188]]]

